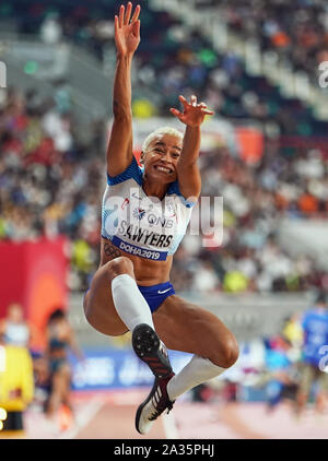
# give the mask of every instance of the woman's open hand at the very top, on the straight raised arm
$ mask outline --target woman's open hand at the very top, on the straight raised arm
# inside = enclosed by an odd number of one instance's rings
[[[119,15],[115,15],[115,44],[119,56],[132,55],[140,43],[140,5],[137,4],[131,17],[132,3],[129,2],[127,10],[121,4]]]

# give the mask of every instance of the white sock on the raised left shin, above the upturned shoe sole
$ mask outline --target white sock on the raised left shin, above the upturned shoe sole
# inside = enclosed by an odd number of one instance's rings
[[[139,323],[147,323],[155,329],[149,305],[136,280],[129,274],[120,274],[113,279],[112,295],[117,314],[130,331]]]

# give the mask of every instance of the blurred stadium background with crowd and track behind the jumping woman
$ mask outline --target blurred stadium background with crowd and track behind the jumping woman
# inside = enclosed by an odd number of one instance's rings
[[[187,235],[172,281],[180,295],[220,316],[241,344],[237,364],[180,399],[150,438],[327,438],[328,416],[319,418],[311,402],[301,419],[284,401],[274,411],[268,402],[274,394],[270,373],[301,360],[298,316],[328,291],[328,90],[319,85],[319,64],[328,61],[328,5],[139,3],[136,155],[153,128],[183,128],[168,111],[179,94],[195,92],[215,110],[203,125],[200,166],[202,196],[223,197],[223,243],[213,247],[204,245],[211,235],[204,244],[203,236]],[[0,60],[7,66],[0,90],[0,317],[12,303],[23,307],[38,332],[28,344],[35,360],[45,348],[49,314],[62,307],[85,356],[70,356],[74,423],[62,427],[45,417],[45,390],[34,370],[34,397],[19,406],[24,432],[8,437],[137,438],[134,411],[152,382],[129,336],[96,333],[82,311],[98,265],[119,4],[0,4]],[[289,340],[286,347],[281,339]],[[187,357],[173,352],[172,359],[178,370]]]

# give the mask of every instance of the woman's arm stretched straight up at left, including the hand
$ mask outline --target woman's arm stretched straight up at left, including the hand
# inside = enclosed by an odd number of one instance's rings
[[[117,51],[113,92],[113,115],[108,150],[107,173],[116,176],[122,173],[132,159],[132,109],[131,109],[131,62],[140,43],[140,5],[131,17],[132,3],[127,9],[120,5],[115,15],[115,44]],[[130,20],[131,19],[131,20]]]

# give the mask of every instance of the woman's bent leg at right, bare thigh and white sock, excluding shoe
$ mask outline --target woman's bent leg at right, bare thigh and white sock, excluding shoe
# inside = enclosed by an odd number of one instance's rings
[[[168,348],[195,354],[167,383],[171,401],[218,377],[238,357],[237,341],[224,323],[213,314],[178,296],[165,299],[154,316],[154,322]]]

